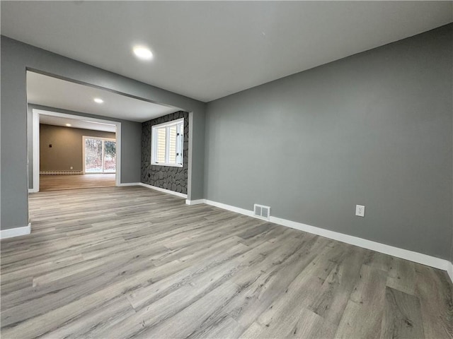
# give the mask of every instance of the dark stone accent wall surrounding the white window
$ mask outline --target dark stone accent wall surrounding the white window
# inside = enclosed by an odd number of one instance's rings
[[[184,118],[183,167],[151,165],[151,126]],[[189,161],[189,114],[179,111],[142,123],[142,182],[152,186],[187,194]]]

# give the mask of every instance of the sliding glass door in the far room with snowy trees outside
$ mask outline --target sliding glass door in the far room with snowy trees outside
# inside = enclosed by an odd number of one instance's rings
[[[116,172],[116,141],[84,136],[84,173]]]

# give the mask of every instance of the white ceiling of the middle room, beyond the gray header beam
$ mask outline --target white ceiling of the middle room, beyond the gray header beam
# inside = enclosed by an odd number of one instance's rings
[[[97,104],[93,101],[95,97],[104,102]],[[31,104],[139,122],[180,110],[177,107],[157,105],[30,71],[27,71],[27,101]]]

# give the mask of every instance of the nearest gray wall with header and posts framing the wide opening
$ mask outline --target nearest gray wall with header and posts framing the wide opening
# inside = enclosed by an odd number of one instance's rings
[[[1,36],[1,230],[28,224],[25,71],[41,71],[190,112],[189,198],[202,198],[205,103]],[[139,157],[137,158],[139,159]],[[131,165],[135,167],[136,164]],[[122,171],[127,172],[127,166]]]

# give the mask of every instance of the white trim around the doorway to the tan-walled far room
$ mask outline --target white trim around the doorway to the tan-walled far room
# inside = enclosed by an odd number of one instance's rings
[[[79,115],[65,114],[59,112],[47,111],[44,109],[33,108],[33,188],[29,192],[40,191],[40,115],[49,115],[51,117],[60,117],[75,120],[101,122],[103,124],[115,125],[116,138],[116,186],[121,184],[121,123],[118,121],[110,121],[91,117],[82,117]]]

